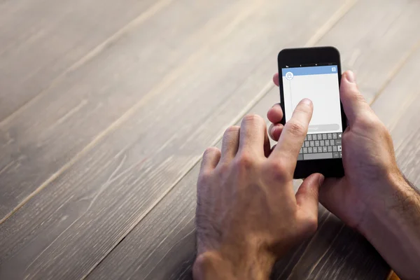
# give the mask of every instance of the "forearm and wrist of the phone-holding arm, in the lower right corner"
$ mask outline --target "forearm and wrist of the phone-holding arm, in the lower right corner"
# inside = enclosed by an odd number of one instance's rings
[[[360,232],[402,279],[420,279],[420,195],[402,176],[390,180]]]

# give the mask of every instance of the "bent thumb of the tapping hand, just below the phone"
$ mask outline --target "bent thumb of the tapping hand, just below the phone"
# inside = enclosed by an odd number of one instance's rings
[[[312,174],[304,179],[296,193],[297,205],[309,214],[318,216],[318,192],[324,181],[319,173]]]

